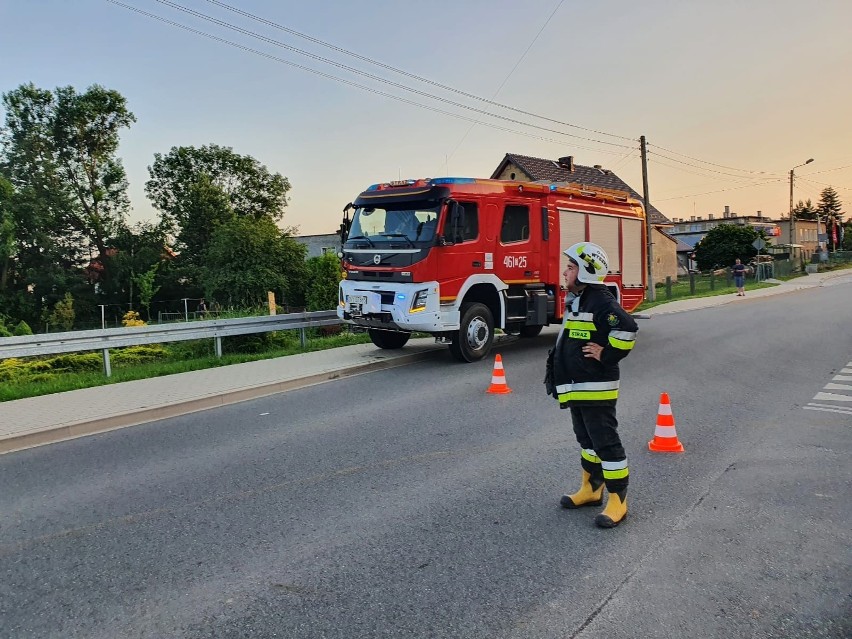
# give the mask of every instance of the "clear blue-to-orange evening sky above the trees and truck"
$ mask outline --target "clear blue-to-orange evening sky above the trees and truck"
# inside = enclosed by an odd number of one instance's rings
[[[808,158],[795,200],[816,202],[832,185],[852,213],[849,0],[227,1],[266,23],[218,1],[121,2],[264,54],[107,0],[0,0],[0,91],[100,84],[127,98],[137,122],[119,155],[131,221],[155,217],[147,167],[173,146],[216,143],[257,158],[292,184],[284,224],[317,234],[333,232],[370,184],[488,177],[507,152],[573,155],[641,192],[643,134],[654,145],[651,202],[669,218],[719,215],[725,205],[786,214],[789,170]]]

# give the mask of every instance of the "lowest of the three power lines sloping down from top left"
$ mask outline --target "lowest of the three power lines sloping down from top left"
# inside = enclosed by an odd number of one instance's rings
[[[405,104],[409,104],[409,105],[412,105],[412,106],[416,106],[416,107],[419,107],[419,108],[421,108],[421,109],[426,109],[426,110],[428,110],[428,111],[433,111],[433,112],[435,112],[435,113],[440,113],[440,114],[442,114],[442,115],[447,115],[447,116],[450,116],[450,117],[453,117],[453,118],[456,118],[456,119],[459,119],[459,120],[464,120],[464,121],[467,121],[467,122],[476,122],[476,120],[475,120],[474,118],[464,116],[464,115],[462,115],[462,114],[460,114],[460,113],[453,113],[453,112],[450,112],[450,111],[445,111],[445,110],[443,110],[443,109],[439,109],[439,108],[437,108],[437,107],[430,106],[430,105],[428,105],[428,104],[423,104],[423,103],[421,103],[421,102],[415,102],[414,100],[409,100],[409,99],[404,98],[404,97],[399,96],[399,95],[394,95],[394,94],[391,94],[391,93],[387,93],[387,92],[385,92],[385,91],[380,91],[380,90],[378,90],[378,89],[375,89],[375,88],[372,88],[372,87],[368,87],[368,86],[363,85],[363,84],[359,84],[359,83],[354,82],[354,81],[352,81],[352,80],[346,80],[346,79],[344,79],[344,78],[339,78],[339,77],[334,76],[334,75],[331,75],[331,74],[329,74],[329,73],[324,73],[323,71],[318,71],[317,69],[312,69],[312,68],[310,68],[310,67],[306,67],[306,66],[301,65],[301,64],[298,64],[298,63],[296,63],[296,62],[292,62],[292,61],[290,61],[290,60],[285,60],[285,59],[283,59],[283,58],[279,58],[278,56],[274,56],[274,55],[272,55],[272,54],[270,54],[270,53],[266,53],[265,51],[260,51],[260,50],[258,50],[258,49],[253,49],[253,48],[251,48],[251,47],[248,47],[248,46],[246,46],[246,45],[243,45],[243,44],[240,44],[240,43],[234,42],[234,41],[232,41],[232,40],[227,40],[227,39],[222,38],[222,37],[220,37],[220,36],[216,36],[216,35],[213,35],[213,34],[211,34],[211,33],[207,33],[206,31],[201,31],[201,30],[199,30],[199,29],[195,29],[195,28],[193,28],[193,27],[189,27],[189,26],[187,26],[187,25],[181,24],[181,23],[179,23],[179,22],[175,22],[175,21],[173,21],[173,20],[169,20],[169,19],[167,19],[167,18],[163,18],[162,16],[158,16],[158,15],[156,15],[156,14],[149,13],[149,12],[147,12],[147,11],[143,11],[142,9],[139,9],[139,8],[137,8],[137,7],[133,7],[133,6],[130,6],[130,5],[126,5],[126,4],[122,3],[122,2],[119,2],[118,0],[106,0],[106,1],[107,1],[107,2],[109,2],[109,3],[111,3],[111,4],[114,4],[114,5],[116,5],[116,6],[122,7],[122,8],[124,8],[124,9],[128,9],[129,11],[133,11],[133,12],[135,12],[135,13],[139,13],[139,14],[141,14],[141,15],[144,15],[144,16],[146,16],[146,17],[152,18],[152,19],[154,19],[154,20],[158,20],[159,22],[163,22],[164,24],[168,24],[168,25],[171,25],[171,26],[177,27],[177,28],[179,28],[179,29],[183,29],[183,30],[185,30],[185,31],[189,31],[190,33],[194,33],[194,34],[196,34],[196,35],[200,35],[200,36],[202,36],[202,37],[208,38],[208,39],[210,39],[210,40],[214,40],[214,41],[216,41],[216,42],[221,42],[221,43],[223,43],[223,44],[227,44],[227,45],[229,45],[229,46],[235,47],[235,48],[240,49],[240,50],[242,50],[242,51],[246,51],[246,52],[248,52],[248,53],[253,53],[253,54],[255,54],[255,55],[261,56],[261,57],[266,58],[266,59],[268,59],[268,60],[272,60],[272,61],[274,61],[274,62],[279,62],[279,63],[281,63],[281,64],[286,64],[286,65],[288,65],[288,66],[291,66],[291,67],[296,68],[296,69],[300,69],[300,70],[302,70],[302,71],[307,71],[308,73],[313,73],[314,75],[320,76],[320,77],[322,77],[322,78],[326,78],[326,79],[328,79],[328,80],[334,80],[335,82],[340,82],[340,83],[342,83],[342,84],[346,84],[346,85],[348,85],[348,86],[352,86],[352,87],[355,87],[355,88],[361,89],[361,90],[363,90],[363,91],[367,91],[367,92],[369,92],[369,93],[373,93],[373,94],[375,94],[375,95],[380,95],[380,96],[382,96],[382,97],[390,98],[390,99],[392,99],[392,100],[397,100],[397,101],[399,101],[399,102],[403,102],[403,103],[405,103]],[[462,106],[464,106],[464,105],[462,105]],[[469,110],[473,110],[473,111],[479,111],[478,109],[474,109],[473,107],[466,107],[466,106],[464,106],[464,108],[467,108],[467,109],[469,109]],[[493,114],[490,114],[490,113],[488,113],[488,112],[484,112],[484,111],[482,111],[482,113],[485,113],[485,114],[487,114],[487,115],[493,115]],[[500,116],[494,116],[494,117],[500,117]],[[500,119],[508,119],[508,118],[500,118]],[[539,128],[539,129],[543,128],[543,127],[535,127],[534,125],[529,125],[529,124],[526,124],[526,123],[524,123],[524,122],[519,122],[519,121],[515,121],[515,120],[510,120],[510,121],[511,121],[511,122],[514,122],[514,123],[517,123],[517,124],[521,124],[521,125],[523,125],[523,126],[533,126],[534,128]],[[493,129],[497,129],[497,130],[500,130],[500,131],[506,131],[506,132],[509,132],[509,133],[515,133],[515,134],[517,134],[517,135],[523,135],[523,136],[526,136],[526,137],[530,137],[530,138],[533,138],[533,139],[542,140],[542,141],[546,141],[546,142],[553,142],[554,144],[562,144],[562,143],[560,143],[560,142],[558,142],[558,141],[556,141],[556,140],[554,140],[554,139],[552,139],[552,138],[547,138],[547,137],[543,137],[543,136],[540,136],[540,135],[535,135],[535,134],[528,133],[528,132],[525,132],[525,131],[518,131],[518,130],[516,130],[516,129],[510,129],[510,128],[508,128],[508,127],[503,127],[503,126],[500,126],[500,125],[498,125],[498,124],[495,124],[495,123],[493,123],[493,122],[482,122],[481,124],[484,124],[485,126],[489,126],[489,127],[493,128]],[[567,136],[570,136],[570,137],[578,137],[578,136],[571,136],[571,134],[564,133],[564,132],[562,132],[562,131],[552,131],[552,130],[550,130],[550,129],[544,129],[544,130],[546,130],[546,131],[550,131],[550,132],[553,132],[553,133],[558,133],[558,134],[560,134],[560,135],[567,135]],[[581,139],[582,139],[582,138],[581,138]],[[607,143],[607,144],[611,144],[611,143]],[[616,145],[616,146],[623,146],[623,145]],[[596,149],[596,148],[592,148],[592,147],[584,147],[584,146],[582,146],[582,145],[575,145],[575,147],[576,147],[576,148],[579,148],[579,149],[588,150],[588,151],[595,151],[595,152],[598,152],[598,153],[608,153],[608,154],[612,154],[612,155],[621,155],[621,152],[619,152],[619,151],[607,151],[607,150],[603,150],[603,149]],[[630,148],[630,147],[623,146],[623,148]]]

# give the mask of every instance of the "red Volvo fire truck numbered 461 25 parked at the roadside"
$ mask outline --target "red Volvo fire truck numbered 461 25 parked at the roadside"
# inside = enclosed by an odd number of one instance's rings
[[[430,333],[473,362],[488,354],[495,328],[534,337],[561,321],[562,251],[575,242],[604,248],[605,284],[632,312],[645,293],[644,220],[628,193],[576,184],[374,184],[344,209],[337,314],[380,348]]]

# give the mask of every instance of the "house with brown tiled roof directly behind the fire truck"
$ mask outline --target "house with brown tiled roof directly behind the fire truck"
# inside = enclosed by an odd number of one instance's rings
[[[596,188],[626,191],[632,197],[642,201],[639,195],[627,182],[618,177],[610,169],[599,164],[583,166],[574,163],[574,156],[569,155],[557,160],[534,158],[529,155],[507,153],[494,172],[494,180],[514,180],[517,182],[537,182],[541,184],[577,184],[586,190]],[[669,219],[652,204],[648,211],[653,227],[654,250],[654,282],[666,281],[666,277],[677,279],[677,240],[665,233],[671,224]]]

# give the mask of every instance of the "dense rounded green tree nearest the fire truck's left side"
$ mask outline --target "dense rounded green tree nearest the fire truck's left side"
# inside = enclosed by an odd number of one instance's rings
[[[289,300],[303,290],[306,250],[269,217],[238,217],[213,232],[201,284],[208,298],[230,306],[258,306],[267,291]]]

